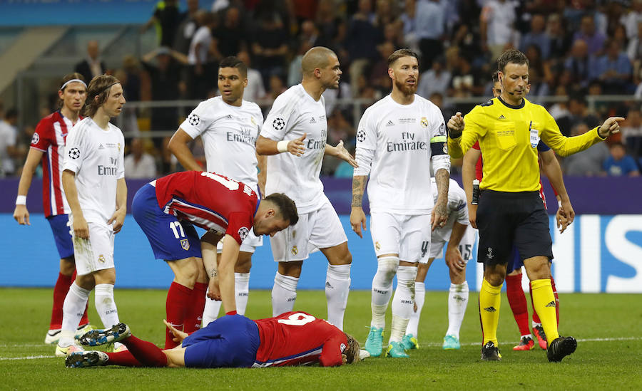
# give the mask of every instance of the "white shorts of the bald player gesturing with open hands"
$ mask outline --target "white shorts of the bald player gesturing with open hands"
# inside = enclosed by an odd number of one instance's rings
[[[276,262],[302,261],[318,249],[338,246],[347,241],[345,231],[330,201],[313,212],[299,214],[295,226],[277,232],[270,238]]]

